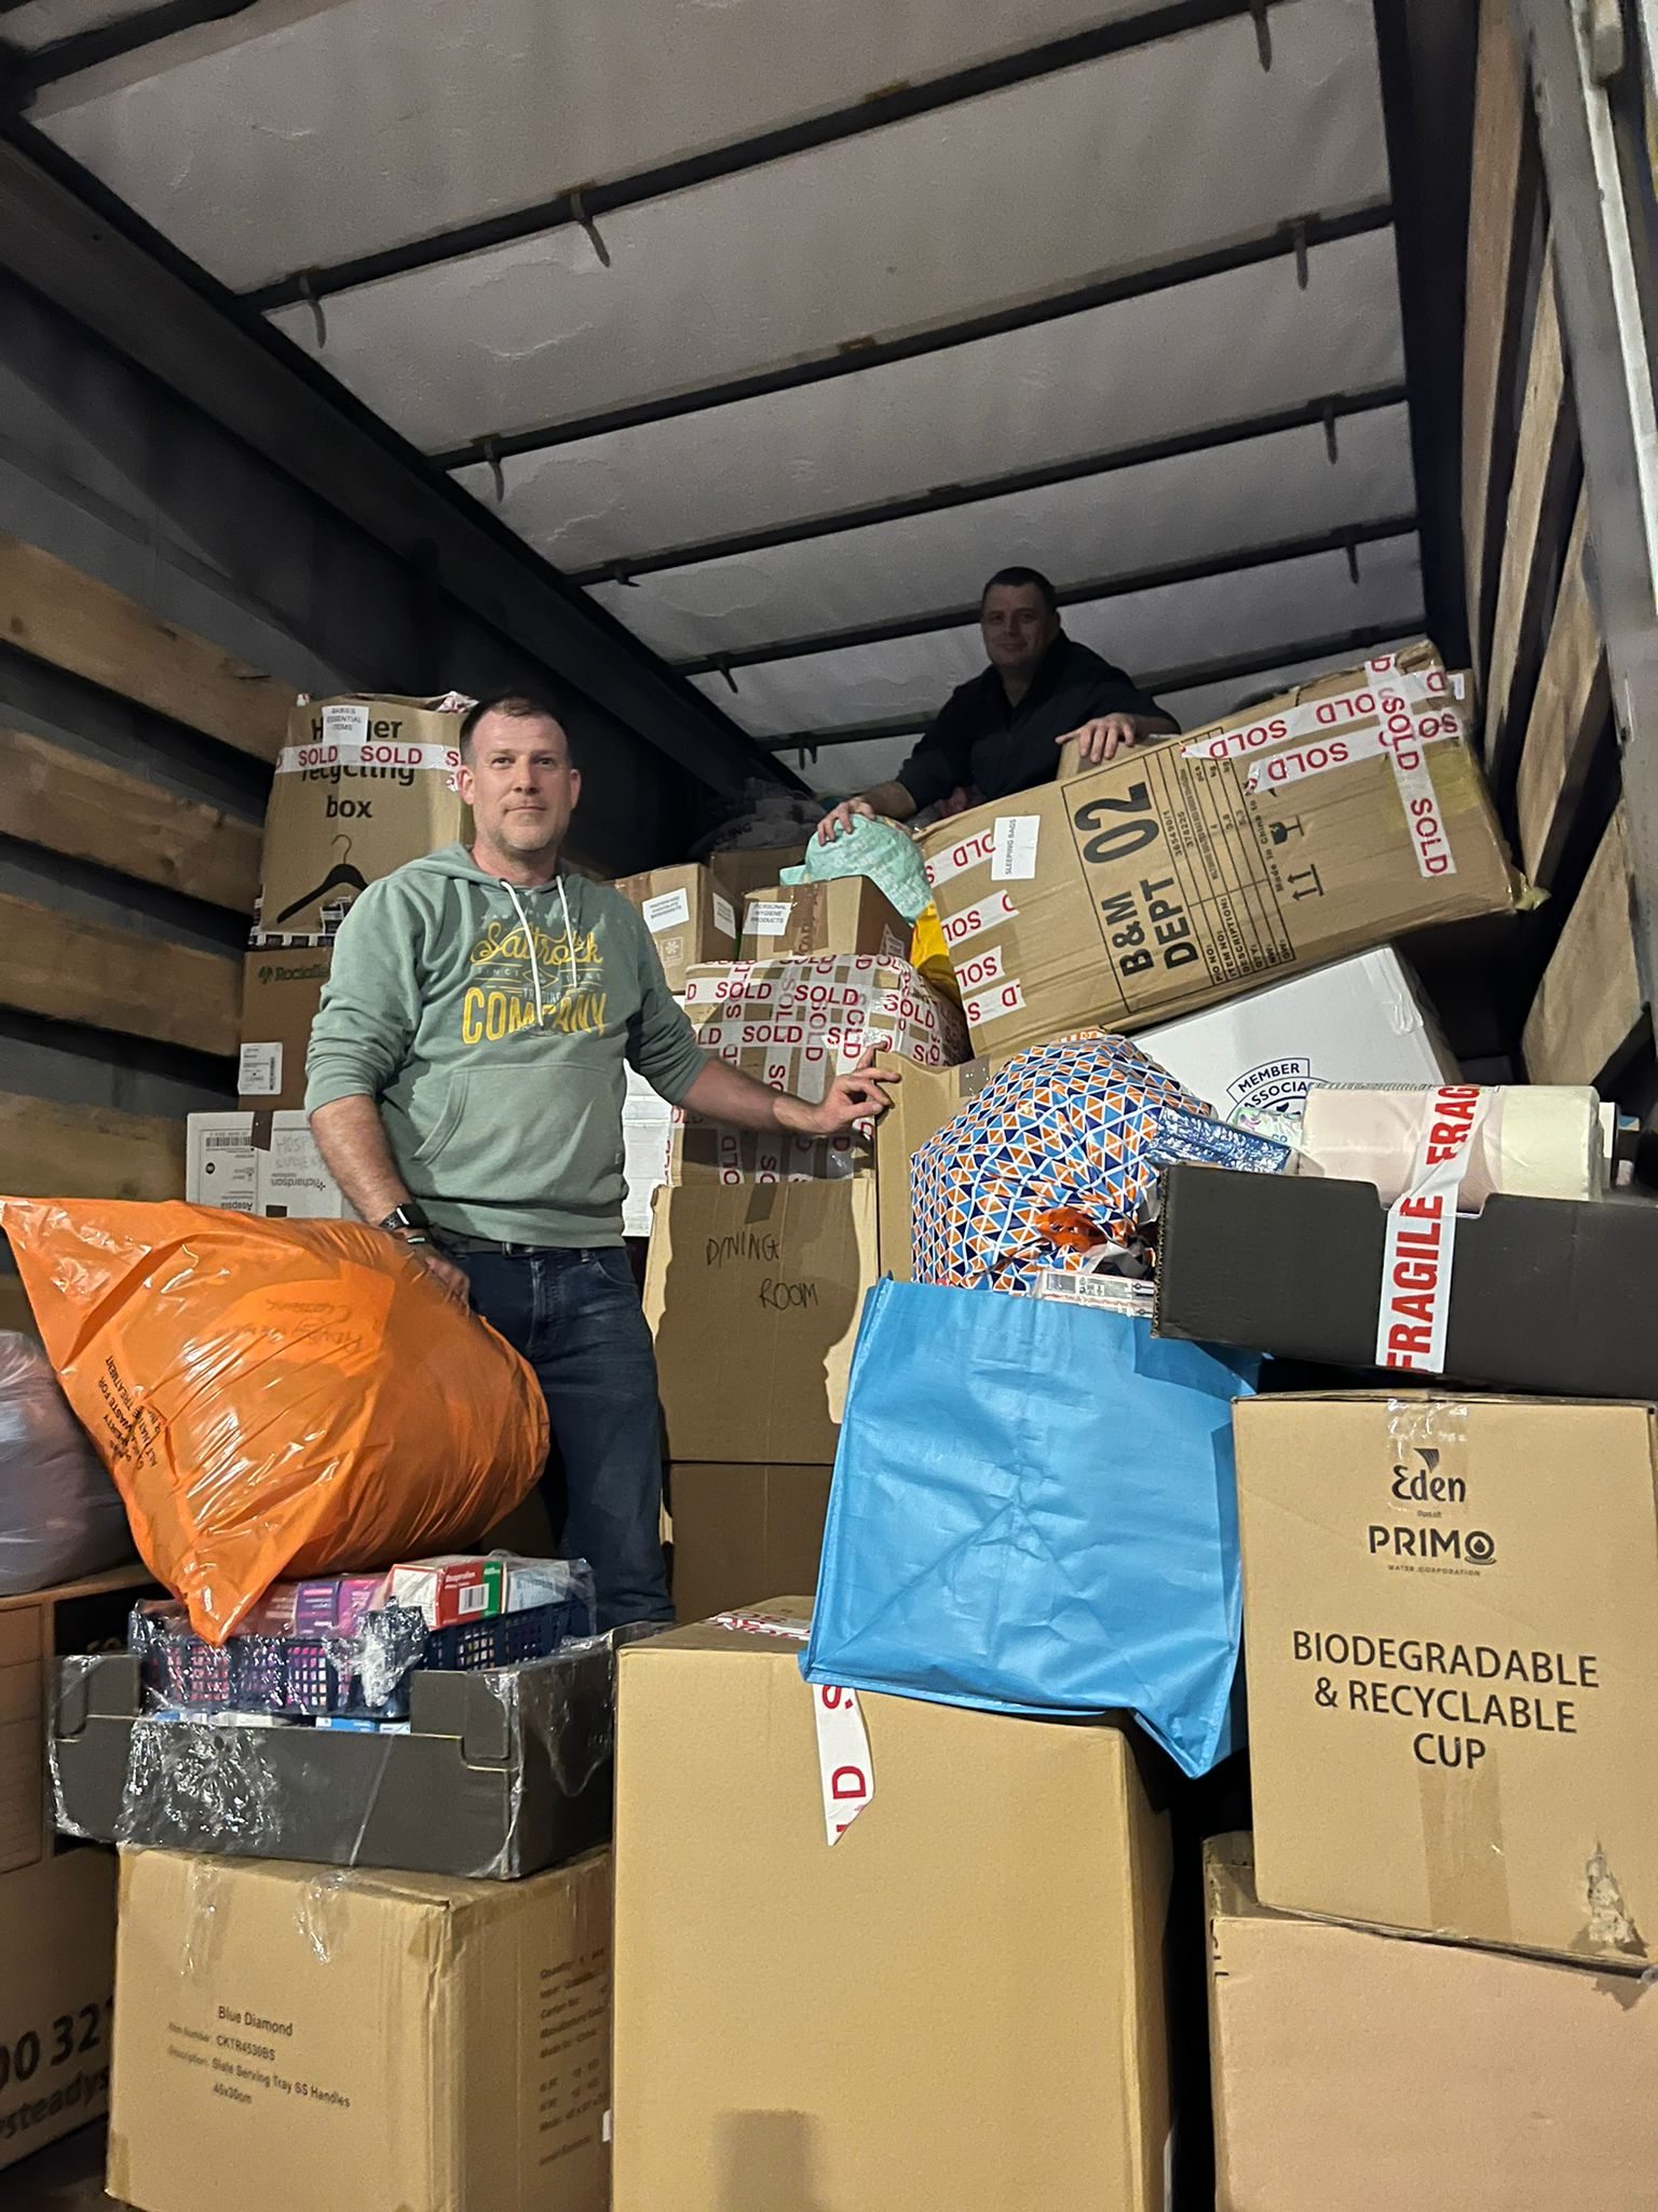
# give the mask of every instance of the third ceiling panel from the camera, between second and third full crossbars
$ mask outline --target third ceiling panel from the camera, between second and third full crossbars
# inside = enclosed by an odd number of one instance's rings
[[[559,566],[1028,469],[1404,372],[1393,237],[1340,239],[1057,323],[502,462]],[[1218,336],[1222,334],[1222,336]],[[491,471],[458,469],[482,500]]]

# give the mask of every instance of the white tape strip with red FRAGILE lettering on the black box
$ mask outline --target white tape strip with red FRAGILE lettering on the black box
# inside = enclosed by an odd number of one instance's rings
[[[1377,1367],[1435,1376],[1446,1369],[1457,1194],[1488,1106],[1490,1093],[1477,1084],[1444,1084],[1428,1095],[1410,1188],[1388,1208],[1375,1316]]]

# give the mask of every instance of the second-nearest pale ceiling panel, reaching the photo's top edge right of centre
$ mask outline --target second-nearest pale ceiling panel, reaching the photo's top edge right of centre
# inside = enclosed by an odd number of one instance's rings
[[[1271,71],[1253,27],[1222,22],[617,210],[608,268],[566,226],[334,294],[321,361],[447,449],[1386,197],[1368,0],[1284,22]],[[318,352],[307,305],[274,323]]]

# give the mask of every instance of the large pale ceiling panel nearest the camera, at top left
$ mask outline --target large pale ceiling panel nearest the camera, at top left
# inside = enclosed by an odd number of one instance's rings
[[[261,0],[53,86],[33,119],[250,290],[1145,4]]]

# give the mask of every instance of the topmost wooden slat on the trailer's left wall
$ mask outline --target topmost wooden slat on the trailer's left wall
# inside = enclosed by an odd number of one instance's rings
[[[137,599],[0,531],[0,635],[53,668],[274,761],[292,692]]]

